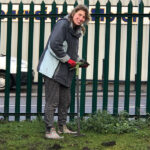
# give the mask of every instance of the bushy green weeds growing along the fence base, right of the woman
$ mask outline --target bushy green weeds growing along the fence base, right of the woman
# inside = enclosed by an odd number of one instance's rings
[[[76,121],[69,123],[69,126],[76,129]],[[117,117],[112,116],[106,111],[97,111],[94,115],[83,118],[80,121],[81,129],[83,131],[92,131],[96,133],[130,133],[136,132],[141,128],[149,126],[149,120],[145,119],[129,119],[127,112],[120,112]]]

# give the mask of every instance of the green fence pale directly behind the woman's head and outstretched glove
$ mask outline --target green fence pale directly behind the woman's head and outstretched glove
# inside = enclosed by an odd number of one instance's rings
[[[85,5],[89,6],[89,1],[85,0]],[[88,27],[85,27],[85,35],[83,37],[82,58],[87,60],[87,41],[88,41]],[[83,117],[85,113],[85,93],[86,93],[86,69],[81,71],[81,96],[80,96],[80,115]]]

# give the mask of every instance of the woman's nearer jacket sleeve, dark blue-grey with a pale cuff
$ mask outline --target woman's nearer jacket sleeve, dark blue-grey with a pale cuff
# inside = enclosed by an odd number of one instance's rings
[[[52,49],[52,55],[59,59],[61,62],[67,62],[70,57],[63,48],[67,32],[68,22],[65,20],[59,20],[51,33],[50,47]]]

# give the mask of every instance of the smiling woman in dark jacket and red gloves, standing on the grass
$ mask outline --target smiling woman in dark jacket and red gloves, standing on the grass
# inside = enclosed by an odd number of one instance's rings
[[[84,33],[83,24],[89,21],[89,11],[78,5],[55,24],[46,48],[40,58],[38,71],[45,80],[46,138],[62,138],[54,128],[54,112],[58,108],[58,132],[75,133],[67,129],[66,118],[70,106],[70,86],[75,70],[70,69],[81,61],[78,56],[79,37]],[[87,63],[81,67],[87,67]]]

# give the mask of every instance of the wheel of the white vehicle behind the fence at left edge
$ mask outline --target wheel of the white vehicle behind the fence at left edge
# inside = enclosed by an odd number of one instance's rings
[[[6,74],[5,72],[0,72],[0,91],[5,90],[5,80],[6,80]],[[12,77],[10,77],[10,88],[13,86]]]

